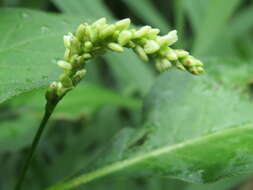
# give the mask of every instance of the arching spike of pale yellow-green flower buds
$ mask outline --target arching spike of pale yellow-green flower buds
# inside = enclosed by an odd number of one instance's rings
[[[161,36],[159,29],[150,26],[129,29],[130,23],[130,19],[123,19],[115,24],[107,24],[106,19],[101,18],[91,25],[81,24],[75,33],[65,35],[64,60],[58,61],[64,73],[59,82],[50,85],[47,98],[55,95],[61,97],[71,90],[84,77],[87,60],[107,50],[123,52],[124,48],[131,48],[143,61],[155,63],[160,72],[172,67],[192,74],[204,72],[201,61],[187,51],[170,47],[178,40],[175,30]]]

